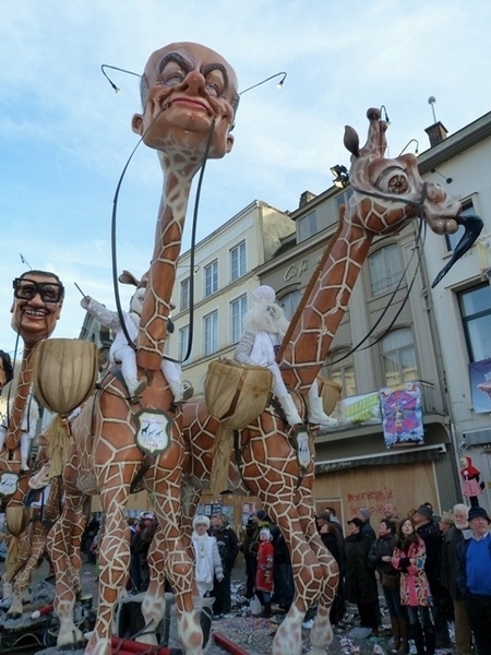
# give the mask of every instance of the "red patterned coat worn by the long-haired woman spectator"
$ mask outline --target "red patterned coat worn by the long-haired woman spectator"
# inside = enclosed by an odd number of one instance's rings
[[[408,562],[404,560],[409,560]],[[392,556],[392,565],[400,571],[400,605],[411,607],[431,607],[433,605],[430,585],[424,573],[427,549],[424,541],[418,539],[417,544],[409,544],[407,550],[397,546]]]

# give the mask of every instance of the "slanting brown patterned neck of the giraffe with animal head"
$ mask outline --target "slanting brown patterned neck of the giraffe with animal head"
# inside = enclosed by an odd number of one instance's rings
[[[307,393],[327,357],[337,327],[348,309],[373,233],[347,211],[312,275],[278,354],[285,383]]]

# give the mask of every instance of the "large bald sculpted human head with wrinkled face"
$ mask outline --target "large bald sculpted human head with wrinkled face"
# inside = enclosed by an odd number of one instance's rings
[[[164,153],[203,153],[215,121],[208,156],[230,152],[229,134],[238,104],[237,76],[217,52],[192,43],[176,43],[155,51],[142,78],[143,114],[133,131]]]

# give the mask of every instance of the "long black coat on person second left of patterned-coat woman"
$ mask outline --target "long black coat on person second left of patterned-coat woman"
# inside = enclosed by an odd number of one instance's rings
[[[378,597],[374,570],[369,565],[370,541],[361,533],[345,538],[345,595],[349,603],[374,603]]]

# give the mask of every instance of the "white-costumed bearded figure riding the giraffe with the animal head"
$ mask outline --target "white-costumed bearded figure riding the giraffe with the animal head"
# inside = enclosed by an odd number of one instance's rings
[[[241,364],[263,366],[273,373],[273,393],[278,398],[290,426],[303,422],[287,391],[282,371],[276,362],[283,337],[288,327],[288,320],[283,309],[275,302],[276,294],[271,286],[262,285],[252,294],[252,307],[243,319],[244,332],[237,345],[235,358]],[[325,414],[322,398],[319,397],[316,380],[307,395],[309,404],[309,422],[322,427],[337,426],[337,421]]]

